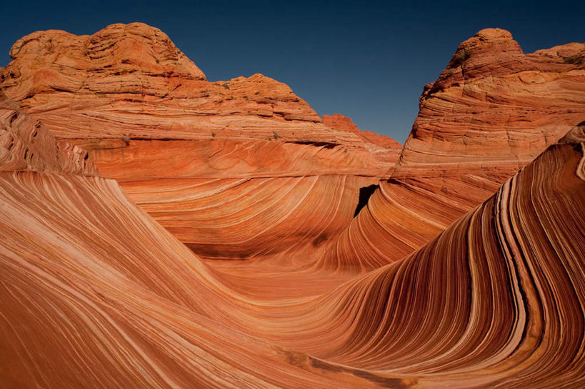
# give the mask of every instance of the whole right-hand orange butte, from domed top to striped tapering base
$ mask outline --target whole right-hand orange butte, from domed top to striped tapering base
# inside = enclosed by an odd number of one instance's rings
[[[585,120],[585,44],[523,54],[508,31],[459,45],[425,86],[389,181],[320,265],[372,269],[399,260],[491,196]]]

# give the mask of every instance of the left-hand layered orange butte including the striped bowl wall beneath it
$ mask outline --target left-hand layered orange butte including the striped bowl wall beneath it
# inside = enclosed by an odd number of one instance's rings
[[[206,81],[145,24],[38,31],[11,57],[5,93],[206,258],[330,244],[398,159],[269,77]]]

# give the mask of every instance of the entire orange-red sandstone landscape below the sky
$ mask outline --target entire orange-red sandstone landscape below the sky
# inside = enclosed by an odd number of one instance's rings
[[[209,83],[144,24],[26,36],[0,94],[1,382],[584,386],[583,54],[479,31],[401,150],[264,76]]]

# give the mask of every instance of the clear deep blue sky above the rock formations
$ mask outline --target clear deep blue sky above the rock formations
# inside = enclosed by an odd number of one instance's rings
[[[0,66],[37,30],[93,34],[141,21],[168,34],[210,81],[265,74],[320,114],[404,142],[424,84],[486,27],[525,53],[585,41],[585,1],[3,1]]]

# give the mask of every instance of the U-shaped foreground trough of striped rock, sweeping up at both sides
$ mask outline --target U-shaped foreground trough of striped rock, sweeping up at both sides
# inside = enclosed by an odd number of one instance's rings
[[[336,288],[309,269],[320,295],[269,302],[234,288],[114,180],[0,181],[9,387],[584,384],[584,127],[411,256]]]

